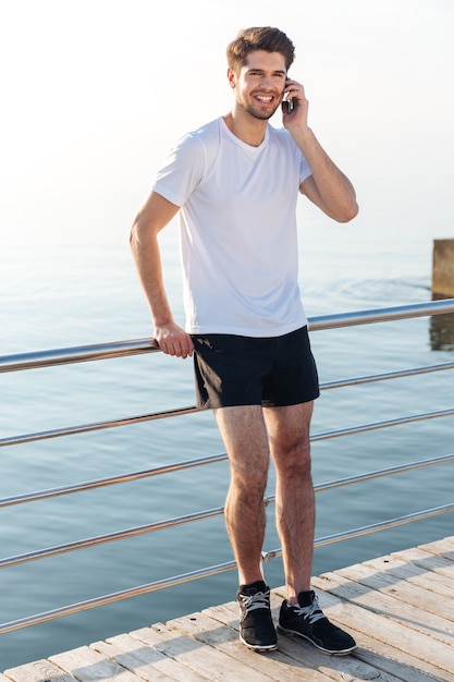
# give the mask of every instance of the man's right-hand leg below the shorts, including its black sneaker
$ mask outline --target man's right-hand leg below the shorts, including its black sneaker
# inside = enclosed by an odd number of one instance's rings
[[[279,630],[309,640],[326,654],[345,656],[355,640],[331,623],[310,589],[315,500],[310,475],[309,428],[312,403],[263,410],[277,471],[275,514],[281,537],[287,598]]]

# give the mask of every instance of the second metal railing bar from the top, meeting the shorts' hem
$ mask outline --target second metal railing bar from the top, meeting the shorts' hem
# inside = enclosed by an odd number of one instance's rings
[[[454,369],[454,363],[443,363],[439,365],[429,365],[426,367],[414,367],[412,369],[403,369],[397,372],[389,372],[385,374],[368,375],[364,377],[354,377],[351,379],[340,379],[320,385],[320,390],[329,390],[333,388],[345,388],[348,386],[358,386],[360,383],[371,383],[373,381],[385,381],[388,379],[401,379],[409,376],[427,374],[431,372],[442,372],[444,369]],[[164,410],[162,412],[152,412],[150,414],[142,414],[130,417],[121,417],[118,419],[91,422],[89,424],[78,424],[75,426],[66,426],[46,431],[35,431],[32,434],[22,434],[19,436],[10,436],[0,438],[0,448],[10,446],[24,444],[26,442],[35,442],[38,440],[47,440],[50,438],[60,438],[63,436],[73,436],[75,434],[87,434],[106,428],[115,428],[118,426],[130,426],[131,424],[140,424],[143,422],[152,422],[155,419],[164,419],[167,417],[182,416],[194,412],[201,412],[201,407],[191,405],[188,407],[179,407],[176,410]]]

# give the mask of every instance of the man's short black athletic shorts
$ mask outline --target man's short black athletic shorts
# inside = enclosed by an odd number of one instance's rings
[[[282,337],[193,337],[198,407],[279,407],[319,397],[307,327]]]

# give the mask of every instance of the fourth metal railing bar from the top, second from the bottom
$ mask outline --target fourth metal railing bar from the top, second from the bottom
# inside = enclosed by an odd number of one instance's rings
[[[225,455],[218,455],[218,460],[226,459]],[[417,462],[412,462],[409,464],[402,464],[401,466],[390,466],[388,468],[381,468],[373,472],[368,472],[366,474],[357,474],[356,476],[348,476],[345,478],[339,478],[336,480],[331,480],[328,483],[322,483],[314,486],[315,492],[323,492],[326,490],[332,490],[334,488],[341,488],[344,486],[349,486],[354,484],[364,483],[367,480],[372,480],[376,478],[380,478],[383,476],[392,476],[394,474],[403,474],[409,471],[414,471],[416,468],[424,468],[426,466],[434,466],[437,464],[446,464],[454,461],[454,453],[446,454],[439,458],[432,458],[428,460],[419,460]],[[199,462],[200,464],[203,462]],[[265,498],[265,503],[268,507],[275,502],[274,496],[268,496]],[[114,540],[125,539],[127,537],[133,537],[136,535],[143,535],[145,533],[154,533],[156,531],[162,531],[164,528],[170,528],[176,525],[182,525],[184,523],[193,523],[196,521],[204,521],[206,519],[212,519],[213,516],[219,516],[223,514],[223,508],[214,508],[206,510],[205,512],[187,514],[184,516],[176,516],[174,519],[170,519],[168,521],[162,521],[158,523],[151,523],[143,526],[135,526],[133,528],[128,528],[125,531],[119,531],[116,533],[109,533],[106,535],[98,535],[91,538],[87,538],[84,540],[78,540],[74,543],[66,543],[64,545],[58,545],[54,547],[49,547],[47,549],[39,549],[33,552],[26,552],[23,555],[16,555],[14,557],[9,557],[0,560],[0,569],[11,568],[13,565],[19,565],[21,563],[27,563],[28,561],[36,561],[38,559],[46,559],[49,557],[53,557],[57,555],[66,553],[69,551],[75,551],[78,549],[85,549],[86,547],[93,547],[95,545],[102,545],[105,543],[112,543]]]

